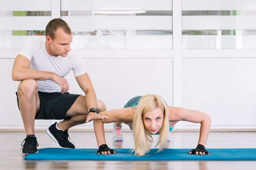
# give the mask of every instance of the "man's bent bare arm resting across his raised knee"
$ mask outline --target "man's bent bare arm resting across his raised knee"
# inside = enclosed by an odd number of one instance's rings
[[[11,77],[14,81],[22,81],[24,79],[46,80],[52,79],[61,86],[61,93],[65,93],[69,89],[67,80],[53,72],[37,71],[29,68],[30,61],[24,55],[18,54],[14,60]]]

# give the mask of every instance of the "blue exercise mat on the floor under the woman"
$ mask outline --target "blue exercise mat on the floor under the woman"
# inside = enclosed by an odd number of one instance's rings
[[[190,149],[151,149],[148,156],[136,157],[130,149],[115,149],[117,154],[97,155],[97,149],[42,148],[39,153],[25,156],[26,160],[256,160],[256,148],[207,149],[211,155],[189,155]]]

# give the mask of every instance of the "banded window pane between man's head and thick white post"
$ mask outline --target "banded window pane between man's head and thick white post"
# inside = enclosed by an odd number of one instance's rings
[[[74,49],[172,49],[172,1],[160,1],[62,0],[61,18]]]

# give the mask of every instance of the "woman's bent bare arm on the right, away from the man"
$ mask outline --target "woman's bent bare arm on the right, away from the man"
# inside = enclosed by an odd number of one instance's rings
[[[169,110],[171,110],[171,113],[169,115],[169,121],[175,120],[175,121],[190,121],[193,123],[200,123],[200,136],[198,140],[198,145],[205,146],[207,143],[207,139],[210,132],[210,126],[211,126],[211,117],[207,115],[206,113],[202,113],[197,110],[189,110],[184,108],[176,108],[176,107],[170,107]],[[189,152],[190,154],[192,152]],[[195,153],[198,155],[198,153]],[[204,155],[203,153],[199,153],[200,155]]]

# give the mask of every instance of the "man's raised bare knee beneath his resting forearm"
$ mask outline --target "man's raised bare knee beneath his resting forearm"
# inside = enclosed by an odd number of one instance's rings
[[[34,79],[25,79],[22,80],[18,86],[18,95],[21,94],[34,94],[35,91],[38,91],[38,83]]]

